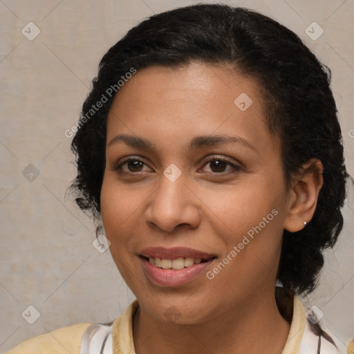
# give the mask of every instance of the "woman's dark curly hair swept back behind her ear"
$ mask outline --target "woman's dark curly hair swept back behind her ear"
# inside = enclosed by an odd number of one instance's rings
[[[284,230],[277,274],[283,286],[299,294],[313,291],[324,263],[322,252],[335,245],[342,230],[340,209],[348,178],[330,69],[294,32],[253,10],[221,4],[176,8],[142,21],[108,50],[71,145],[77,162],[71,185],[77,205],[100,216],[106,119],[118,81],[126,81],[132,68],[176,67],[192,61],[231,65],[259,82],[269,129],[282,141],[288,186],[310,159],[322,162],[324,185],[313,219],[299,232]]]

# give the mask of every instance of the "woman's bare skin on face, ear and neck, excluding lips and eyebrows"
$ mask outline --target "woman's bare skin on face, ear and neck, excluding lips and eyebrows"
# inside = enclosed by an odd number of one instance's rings
[[[115,264],[140,302],[133,319],[138,354],[274,354],[285,345],[290,325],[274,299],[282,232],[301,230],[310,221],[322,166],[309,162],[317,169],[294,176],[292,188],[286,187],[281,142],[265,123],[258,88],[225,65],[193,62],[138,71],[115,97],[101,212]],[[246,111],[234,104],[241,93],[253,101]],[[156,149],[129,147],[122,140],[110,144],[118,134],[145,138]],[[204,135],[237,136],[248,144],[187,149],[192,138]],[[116,170],[128,156],[144,164],[125,163]],[[220,159],[238,168],[216,165]],[[172,163],[182,172],[173,183],[163,174]],[[170,287],[145,274],[138,255],[151,246],[215,254],[212,270],[272,209],[277,216],[214,279],[201,274]],[[180,314],[175,323],[164,315],[171,306]]]

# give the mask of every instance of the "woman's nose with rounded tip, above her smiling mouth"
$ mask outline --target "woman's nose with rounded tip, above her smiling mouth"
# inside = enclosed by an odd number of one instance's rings
[[[162,175],[145,211],[147,225],[165,232],[198,227],[201,218],[198,205],[201,201],[189,185],[183,174],[174,182]]]

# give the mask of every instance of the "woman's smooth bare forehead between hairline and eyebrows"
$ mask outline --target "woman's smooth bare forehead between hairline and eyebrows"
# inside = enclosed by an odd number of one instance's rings
[[[174,147],[196,135],[232,133],[260,148],[277,144],[265,118],[256,80],[226,65],[192,62],[138,71],[115,95],[107,142],[118,133],[163,138]]]

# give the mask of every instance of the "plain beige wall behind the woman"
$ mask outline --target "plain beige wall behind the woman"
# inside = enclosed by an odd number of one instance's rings
[[[64,132],[77,122],[106,50],[145,17],[198,2],[0,0],[0,352],[56,328],[110,322],[135,299],[109,250],[93,247],[93,223],[66,193],[75,167]],[[354,176],[354,1],[224,3],[281,22],[331,68]],[[354,338],[352,196],[319,287],[303,299],[342,342]]]

